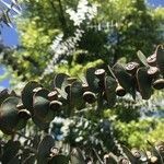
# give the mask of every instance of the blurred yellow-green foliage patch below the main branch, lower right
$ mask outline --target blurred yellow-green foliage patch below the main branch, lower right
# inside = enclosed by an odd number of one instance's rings
[[[119,120],[115,122],[115,128],[120,143],[134,148],[144,149],[148,140],[154,142],[164,138],[163,118],[145,118],[128,124]]]

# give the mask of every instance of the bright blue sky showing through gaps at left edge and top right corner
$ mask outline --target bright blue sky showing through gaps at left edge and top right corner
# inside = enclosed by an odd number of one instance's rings
[[[148,3],[154,7],[162,5],[164,7],[164,0],[148,0]],[[19,44],[19,36],[15,28],[10,28],[4,25],[4,27],[0,27],[2,33],[3,43],[8,46],[14,46]],[[0,75],[4,73],[4,69],[0,67]],[[9,87],[9,80],[4,80],[0,82],[0,87]]]

